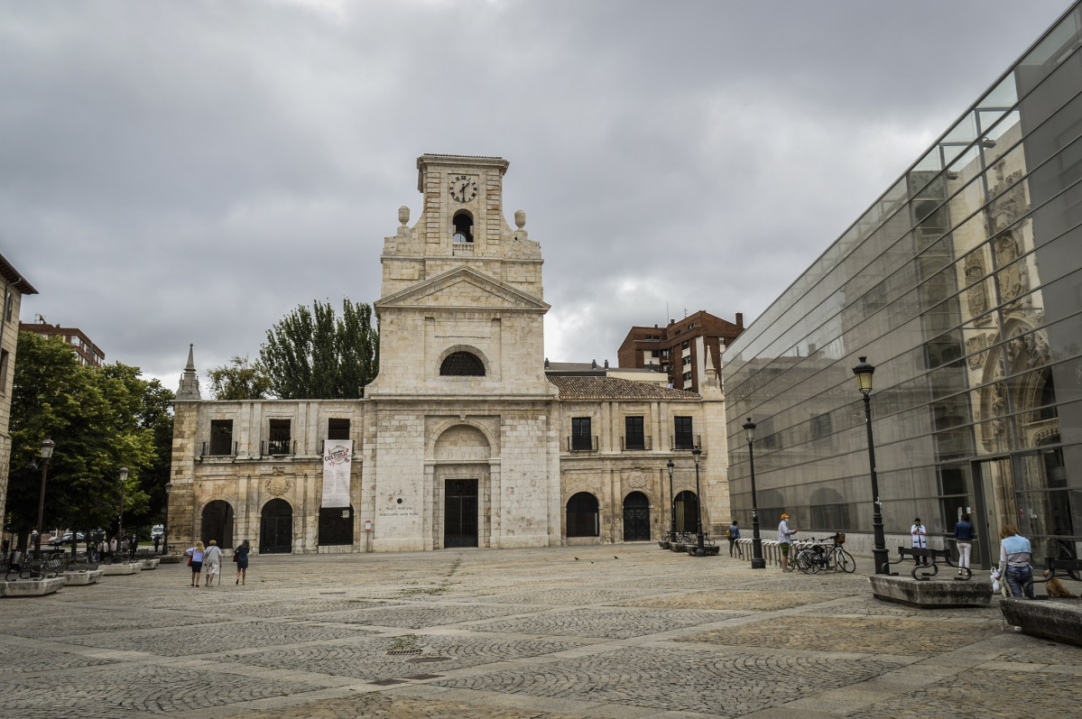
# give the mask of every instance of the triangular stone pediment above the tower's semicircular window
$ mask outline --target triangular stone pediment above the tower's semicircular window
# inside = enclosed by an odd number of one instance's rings
[[[390,307],[549,310],[543,301],[472,267],[446,271],[375,302],[377,310]]]

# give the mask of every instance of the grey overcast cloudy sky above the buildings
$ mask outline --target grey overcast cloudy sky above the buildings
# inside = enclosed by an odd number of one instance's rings
[[[418,156],[498,156],[546,356],[615,364],[753,320],[1069,4],[0,0],[0,253],[23,321],[175,390],[378,299]]]

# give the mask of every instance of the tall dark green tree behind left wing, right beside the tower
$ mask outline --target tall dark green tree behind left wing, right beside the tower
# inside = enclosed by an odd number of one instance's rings
[[[371,306],[345,298],[338,318],[317,299],[267,331],[260,360],[281,399],[356,399],[379,373],[379,343]]]

